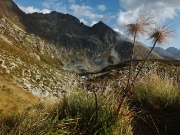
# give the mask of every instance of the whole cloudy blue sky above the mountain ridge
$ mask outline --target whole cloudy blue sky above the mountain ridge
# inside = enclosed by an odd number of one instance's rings
[[[84,24],[92,26],[103,21],[116,31],[125,34],[124,25],[132,22],[139,13],[148,10],[157,24],[171,20],[175,38],[164,48],[180,49],[180,0],[14,0],[26,13],[57,11],[74,15]],[[141,42],[150,45],[143,38]]]

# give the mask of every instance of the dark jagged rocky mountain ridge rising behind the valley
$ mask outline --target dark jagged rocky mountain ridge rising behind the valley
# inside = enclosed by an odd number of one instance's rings
[[[60,60],[66,70],[92,72],[130,59],[132,41],[101,21],[89,27],[69,14],[55,11],[25,14],[12,0],[0,0],[0,4],[3,7],[0,14],[48,42],[56,52],[53,57]],[[143,44],[137,43],[135,58],[144,59],[148,51]],[[155,53],[151,58],[161,59]]]

